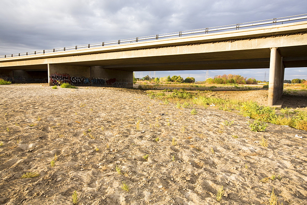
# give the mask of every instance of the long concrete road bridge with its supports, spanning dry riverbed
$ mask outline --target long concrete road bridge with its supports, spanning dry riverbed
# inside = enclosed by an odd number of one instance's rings
[[[49,85],[63,80],[129,88],[134,71],[270,68],[268,105],[274,105],[283,92],[284,69],[307,67],[307,21],[12,56],[0,58],[0,77]]]

